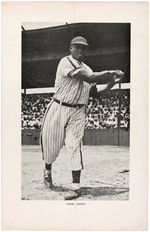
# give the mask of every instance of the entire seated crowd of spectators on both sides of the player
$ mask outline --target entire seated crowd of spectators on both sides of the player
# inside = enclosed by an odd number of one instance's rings
[[[22,129],[40,129],[47,105],[52,95],[22,94]],[[119,117],[120,99],[120,117]],[[118,127],[129,129],[130,123],[130,90],[108,91],[99,99],[89,98],[86,107],[86,129],[107,129]]]

